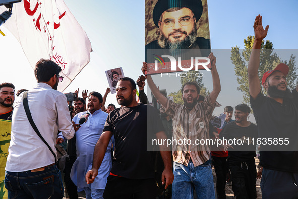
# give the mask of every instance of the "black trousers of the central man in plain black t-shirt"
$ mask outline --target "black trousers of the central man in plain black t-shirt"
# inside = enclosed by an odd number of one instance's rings
[[[128,179],[109,175],[103,193],[104,199],[154,199],[156,197],[155,179]]]

